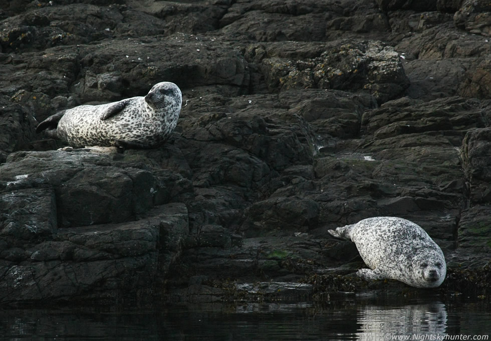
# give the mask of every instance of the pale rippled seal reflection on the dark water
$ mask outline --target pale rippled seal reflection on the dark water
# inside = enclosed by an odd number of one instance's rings
[[[447,312],[441,302],[399,307],[367,305],[360,308],[358,321],[360,340],[392,339],[392,336],[398,339],[397,335],[428,339],[430,336],[426,335],[445,335]]]

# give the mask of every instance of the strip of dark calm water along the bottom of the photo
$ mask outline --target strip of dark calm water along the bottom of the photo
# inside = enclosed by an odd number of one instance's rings
[[[2,341],[436,340],[461,334],[489,340],[489,333],[491,309],[484,301],[346,298],[322,305],[248,303],[152,311],[0,310]]]

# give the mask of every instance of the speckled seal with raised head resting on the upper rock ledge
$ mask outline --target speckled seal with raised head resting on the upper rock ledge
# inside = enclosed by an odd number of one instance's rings
[[[41,122],[39,133],[72,147],[154,148],[167,140],[179,118],[181,90],[171,82],[155,84],[146,96],[101,105],[80,105]]]

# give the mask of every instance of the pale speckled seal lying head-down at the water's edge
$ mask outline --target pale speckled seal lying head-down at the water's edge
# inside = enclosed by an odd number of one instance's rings
[[[396,279],[416,288],[439,286],[446,275],[443,252],[428,234],[409,220],[374,217],[328,231],[355,243],[370,269],[357,275],[370,279]]]

